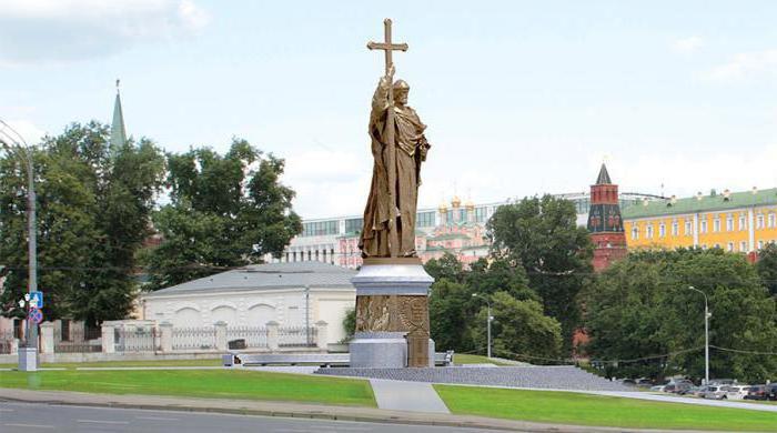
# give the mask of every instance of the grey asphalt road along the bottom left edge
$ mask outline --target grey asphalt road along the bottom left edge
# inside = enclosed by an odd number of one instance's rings
[[[493,430],[0,402],[2,433],[493,433]]]

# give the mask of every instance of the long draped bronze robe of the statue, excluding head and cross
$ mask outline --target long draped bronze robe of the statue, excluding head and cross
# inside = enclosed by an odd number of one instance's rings
[[[389,167],[386,145],[386,112],[389,87],[382,78],[372,99],[370,114],[370,137],[372,138],[372,184],[364,209],[364,228],[359,248],[364,258],[391,256],[389,245],[389,221],[396,218],[400,256],[415,256],[415,213],[418,201],[421,163],[426,160],[430,144],[424,137],[426,125],[412,108],[392,107],[394,110],[395,167]],[[389,172],[394,170],[396,183],[389,185]],[[395,203],[389,199],[389,188],[394,189]]]

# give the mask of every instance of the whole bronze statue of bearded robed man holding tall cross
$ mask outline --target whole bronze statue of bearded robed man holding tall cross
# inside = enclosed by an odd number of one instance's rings
[[[407,105],[410,85],[403,80],[392,82],[392,51],[406,51],[407,44],[392,43],[391,20],[384,26],[385,42],[367,43],[371,50],[385,51],[386,72],[372,98],[374,164],[359,248],[364,258],[413,258],[421,163],[430,144],[424,137],[426,125]]]

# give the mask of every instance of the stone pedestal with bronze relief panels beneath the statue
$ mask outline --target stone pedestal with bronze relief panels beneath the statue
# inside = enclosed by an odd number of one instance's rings
[[[428,366],[428,288],[434,282],[418,259],[365,259],[356,288],[352,367]]]

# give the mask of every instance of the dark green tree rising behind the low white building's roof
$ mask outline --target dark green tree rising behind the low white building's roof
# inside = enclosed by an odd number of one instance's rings
[[[294,191],[280,182],[283,160],[244,140],[223,157],[208,148],[168,154],[168,167],[171,203],[153,214],[163,241],[144,255],[149,289],[260,263],[302,231]]]

